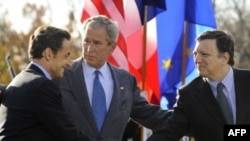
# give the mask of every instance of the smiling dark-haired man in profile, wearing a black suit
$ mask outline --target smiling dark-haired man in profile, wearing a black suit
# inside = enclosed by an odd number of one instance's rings
[[[88,141],[70,122],[51,81],[71,65],[70,46],[70,34],[55,27],[41,26],[31,35],[31,63],[3,93],[1,141]]]

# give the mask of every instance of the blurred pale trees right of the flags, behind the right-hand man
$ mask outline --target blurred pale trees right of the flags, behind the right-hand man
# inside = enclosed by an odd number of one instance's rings
[[[235,66],[250,69],[249,0],[223,1],[223,6],[215,5],[218,28],[231,33],[234,38]]]

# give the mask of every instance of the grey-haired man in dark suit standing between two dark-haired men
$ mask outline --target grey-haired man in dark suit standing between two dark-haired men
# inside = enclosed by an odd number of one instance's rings
[[[110,64],[107,59],[116,48],[118,25],[105,16],[90,17],[83,23],[82,56],[65,69],[59,81],[63,103],[78,130],[83,130],[90,141],[121,141],[131,118],[147,128],[159,129],[166,111],[150,105],[140,93],[136,78],[128,71]],[[106,116],[98,129],[92,109],[95,71],[103,86]],[[93,98],[93,99],[92,99]]]

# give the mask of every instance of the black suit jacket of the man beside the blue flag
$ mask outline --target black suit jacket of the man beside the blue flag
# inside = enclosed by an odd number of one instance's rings
[[[234,70],[236,124],[250,124],[250,71]],[[191,130],[195,141],[223,141],[226,120],[207,81],[194,79],[178,91],[173,117],[148,141],[179,141]]]

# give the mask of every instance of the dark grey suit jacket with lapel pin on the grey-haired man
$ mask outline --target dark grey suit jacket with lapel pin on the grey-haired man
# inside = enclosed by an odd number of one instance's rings
[[[166,111],[161,111],[158,106],[148,105],[140,96],[134,76],[108,64],[114,81],[114,93],[99,134],[87,94],[82,61],[82,58],[75,60],[72,67],[65,70],[60,82],[66,111],[78,130],[83,130],[91,141],[121,141],[130,117],[148,128],[157,129],[162,126],[167,116]]]

